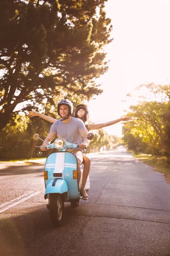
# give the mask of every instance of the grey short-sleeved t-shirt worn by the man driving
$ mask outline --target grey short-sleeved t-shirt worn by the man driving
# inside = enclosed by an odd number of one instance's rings
[[[62,119],[57,120],[51,125],[50,132],[56,133],[58,138],[63,138],[68,142],[74,143],[82,139],[80,130],[87,130],[82,120],[71,117],[69,123],[63,123]],[[88,131],[87,131],[88,132]],[[84,141],[78,141],[76,144],[83,143]]]

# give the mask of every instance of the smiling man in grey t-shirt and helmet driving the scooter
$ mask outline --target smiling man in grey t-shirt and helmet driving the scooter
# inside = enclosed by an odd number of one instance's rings
[[[88,139],[82,139],[85,138],[88,135],[88,131],[85,128],[84,122],[78,118],[72,117],[73,114],[73,104],[69,100],[62,100],[57,105],[57,112],[58,115],[61,116],[59,120],[54,122],[51,125],[50,133],[45,138],[45,142],[49,143],[56,135],[58,138],[63,138],[68,142],[74,143],[76,141],[76,144],[81,149],[86,149],[88,146]],[[41,146],[41,150],[47,150],[45,146],[47,143],[43,142],[43,145]],[[77,170],[78,170],[78,181],[80,181],[81,177],[81,169],[80,164],[83,161],[83,155],[81,150],[75,149],[69,149],[67,151],[73,152],[74,155],[76,155],[77,158]],[[83,170],[84,172],[84,170]],[[82,188],[80,189],[80,195],[84,200],[88,198],[88,194],[85,190],[85,182],[84,177],[86,175],[82,175]],[[83,185],[84,184],[84,185]]]

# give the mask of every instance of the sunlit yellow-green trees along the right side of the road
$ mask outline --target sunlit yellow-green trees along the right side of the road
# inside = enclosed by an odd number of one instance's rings
[[[123,139],[135,152],[170,155],[170,86],[152,83],[146,88],[152,99],[130,107],[127,115],[134,119],[123,126]]]

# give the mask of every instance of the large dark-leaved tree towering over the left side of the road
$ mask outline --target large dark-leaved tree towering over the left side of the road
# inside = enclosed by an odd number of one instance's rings
[[[54,90],[86,99],[101,93],[95,78],[107,71],[112,30],[106,1],[0,1],[0,129],[19,103]]]

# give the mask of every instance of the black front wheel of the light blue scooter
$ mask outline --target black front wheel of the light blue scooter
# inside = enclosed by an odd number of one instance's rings
[[[59,227],[63,221],[63,200],[60,194],[50,194],[50,220],[53,227]]]

